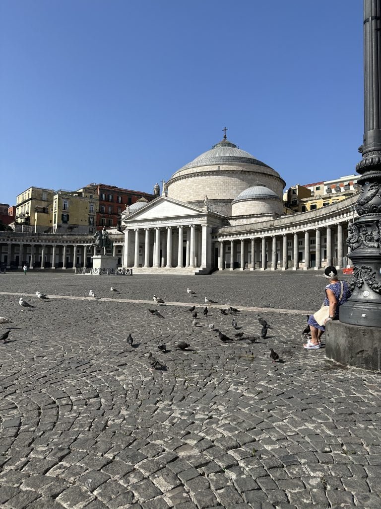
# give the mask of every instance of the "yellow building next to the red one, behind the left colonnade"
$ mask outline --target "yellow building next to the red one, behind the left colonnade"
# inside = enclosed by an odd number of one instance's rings
[[[53,196],[53,233],[95,233],[98,210],[96,187],[59,189]]]

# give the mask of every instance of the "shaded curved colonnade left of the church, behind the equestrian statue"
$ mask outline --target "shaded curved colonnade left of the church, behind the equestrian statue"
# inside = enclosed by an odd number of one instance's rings
[[[124,244],[114,243],[113,256],[122,264]],[[10,268],[68,269],[91,267],[91,257],[101,254],[96,246],[79,243],[2,242],[0,239],[0,263]]]

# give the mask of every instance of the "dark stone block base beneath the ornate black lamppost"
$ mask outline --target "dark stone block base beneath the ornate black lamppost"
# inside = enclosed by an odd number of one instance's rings
[[[347,366],[381,371],[381,329],[338,320],[328,322],[326,357]]]

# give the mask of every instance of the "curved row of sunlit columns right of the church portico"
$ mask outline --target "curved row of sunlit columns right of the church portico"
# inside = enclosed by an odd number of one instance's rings
[[[344,235],[345,234],[345,235]],[[289,233],[271,233],[237,239],[220,238],[219,270],[319,269],[347,265],[347,222]]]

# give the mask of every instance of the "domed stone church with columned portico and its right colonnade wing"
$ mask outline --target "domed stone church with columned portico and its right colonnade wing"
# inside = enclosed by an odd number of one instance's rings
[[[225,134],[163,182],[156,199],[138,200],[122,214],[123,267],[163,274],[346,267],[357,195],[284,214],[284,185]]]

